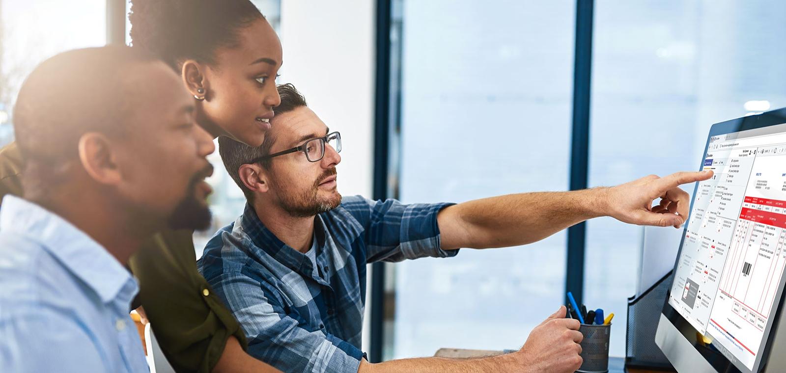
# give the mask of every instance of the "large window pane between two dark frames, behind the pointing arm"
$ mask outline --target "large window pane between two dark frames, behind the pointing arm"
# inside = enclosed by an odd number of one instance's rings
[[[575,2],[394,8],[402,201],[565,190]],[[565,240],[560,232],[527,247],[395,264],[384,358],[431,356],[440,347],[518,349],[562,303]]]

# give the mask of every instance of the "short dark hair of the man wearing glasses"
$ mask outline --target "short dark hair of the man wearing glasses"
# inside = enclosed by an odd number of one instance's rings
[[[296,108],[308,106],[306,97],[303,97],[303,94],[299,93],[291,83],[281,84],[277,86],[277,89],[278,95],[281,96],[281,104],[274,108],[276,115],[292,112],[292,110]],[[250,189],[246,188],[243,181],[241,181],[241,166],[251,163],[254,159],[269,155],[270,148],[273,148],[273,143],[275,141],[275,137],[270,133],[265,134],[265,140],[259,147],[248,146],[230,137],[219,137],[219,154],[221,154],[226,172],[230,174],[232,180],[241,188],[246,199],[249,201],[253,201],[254,194]],[[270,159],[263,159],[259,161],[259,164],[265,168],[270,168]]]

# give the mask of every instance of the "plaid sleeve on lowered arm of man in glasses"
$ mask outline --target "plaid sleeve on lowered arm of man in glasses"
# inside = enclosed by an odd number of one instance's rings
[[[241,272],[223,273],[211,283],[243,325],[253,357],[281,371],[358,371],[362,351],[289,315],[277,298],[280,292]]]

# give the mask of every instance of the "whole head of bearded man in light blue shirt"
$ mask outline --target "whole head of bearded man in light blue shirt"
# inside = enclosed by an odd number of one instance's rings
[[[194,119],[193,101],[145,49],[75,49],[42,62],[14,109],[24,197],[61,211],[76,200],[93,203],[140,232],[170,221],[206,227],[205,157],[215,146]]]

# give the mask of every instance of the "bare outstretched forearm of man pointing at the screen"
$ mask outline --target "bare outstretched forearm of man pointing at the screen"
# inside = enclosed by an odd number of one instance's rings
[[[542,240],[607,214],[607,190],[520,193],[446,207],[438,216],[442,248],[509,247]]]

